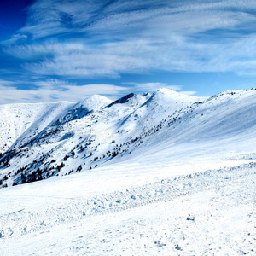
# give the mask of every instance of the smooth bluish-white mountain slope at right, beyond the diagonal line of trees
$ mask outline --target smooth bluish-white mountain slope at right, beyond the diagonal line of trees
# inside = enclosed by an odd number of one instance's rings
[[[173,162],[205,154],[221,158],[255,152],[255,113],[255,90],[227,91],[195,102],[164,119],[158,134],[148,138],[150,149],[140,157],[157,160],[160,152]]]

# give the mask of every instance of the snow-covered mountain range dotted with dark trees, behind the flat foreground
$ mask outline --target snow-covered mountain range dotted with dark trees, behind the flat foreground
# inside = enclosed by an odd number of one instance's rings
[[[1,187],[108,166],[166,168],[253,152],[256,90],[200,98],[162,88],[112,102],[0,106]],[[205,167],[205,166],[204,166]]]

